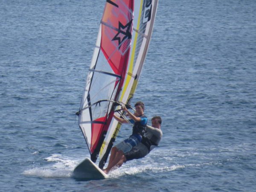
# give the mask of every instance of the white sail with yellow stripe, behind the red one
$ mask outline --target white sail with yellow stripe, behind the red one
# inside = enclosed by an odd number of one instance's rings
[[[134,96],[143,64],[148,51],[151,34],[153,32],[154,20],[157,13],[158,0],[136,0],[134,1],[134,20],[129,55],[128,69],[125,82],[118,101],[130,104]],[[111,121],[110,128],[105,137],[99,154],[99,167],[103,168],[111,151],[121,124],[115,119]]]

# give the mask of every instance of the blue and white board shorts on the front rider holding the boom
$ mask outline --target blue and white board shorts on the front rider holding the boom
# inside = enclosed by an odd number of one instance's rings
[[[121,150],[123,151],[124,153],[127,153],[129,151],[131,151],[131,149],[138,145],[140,142],[141,142],[141,135],[131,135],[128,139],[118,143],[115,147],[118,149],[118,150]]]

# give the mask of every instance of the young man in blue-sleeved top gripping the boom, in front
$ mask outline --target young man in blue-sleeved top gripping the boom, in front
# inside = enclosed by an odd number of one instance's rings
[[[131,151],[131,149],[139,144],[142,140],[142,137],[145,132],[145,128],[148,122],[148,118],[144,115],[144,104],[143,102],[137,102],[135,104],[135,111],[136,113],[132,114],[130,111],[127,110],[127,108],[122,107],[122,110],[127,112],[127,115],[131,118],[129,119],[129,122],[134,124],[132,129],[131,136],[122,141],[121,143],[118,143],[116,146],[114,146],[111,149],[111,154],[108,162],[108,167],[104,169],[104,172],[108,174],[108,172],[115,166],[120,160],[121,157],[127,153],[128,151]],[[114,115],[114,118],[119,123],[128,123],[127,120],[121,119],[120,117]]]

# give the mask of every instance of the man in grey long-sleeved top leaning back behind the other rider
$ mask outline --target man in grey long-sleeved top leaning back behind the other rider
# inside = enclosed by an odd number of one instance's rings
[[[120,161],[113,166],[117,168],[122,166],[126,161],[133,159],[140,159],[145,157],[155,146],[157,146],[163,136],[161,131],[162,119],[160,116],[154,116],[151,119],[152,127],[147,125],[144,137],[137,146],[133,147],[131,151],[122,155]]]

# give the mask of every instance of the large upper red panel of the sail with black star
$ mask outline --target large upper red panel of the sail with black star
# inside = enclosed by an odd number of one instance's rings
[[[102,17],[101,50],[116,75],[125,75],[130,52],[133,0],[106,3]]]

